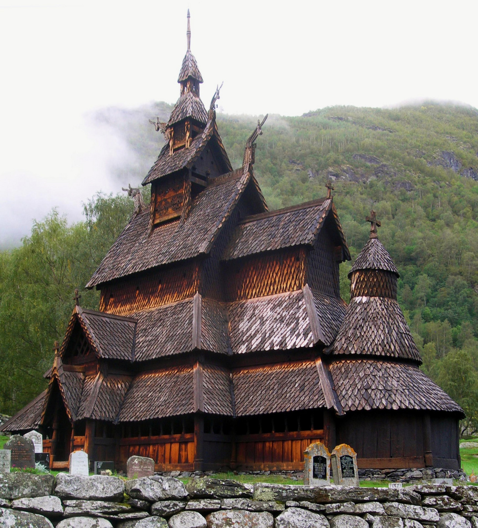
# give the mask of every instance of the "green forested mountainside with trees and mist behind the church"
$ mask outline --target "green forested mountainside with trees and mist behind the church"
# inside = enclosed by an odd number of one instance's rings
[[[129,174],[131,184],[139,184],[164,142],[148,118],[164,121],[170,110],[157,103],[131,111],[107,109],[95,116],[137,154],[130,166],[118,169],[119,177]],[[234,167],[242,163],[256,119],[217,116]],[[365,216],[370,209],[377,212],[379,238],[400,272],[398,297],[423,368],[478,425],[478,111],[424,102],[269,116],[255,159],[270,209],[324,196],[324,185],[333,181],[352,259],[368,238]],[[131,204],[100,197],[89,208],[87,220],[73,227],[51,215],[34,226],[21,248],[0,257],[0,374],[7,380],[0,391],[0,411],[12,412],[41,390],[39,373],[49,366],[53,341],[62,338],[73,289],[87,282],[126,222]],[[55,246],[58,238],[63,241]],[[45,244],[52,247],[42,249]],[[59,274],[54,268],[61,247],[67,248],[61,257],[66,263]],[[45,265],[54,270],[51,278],[40,277]],[[342,296],[348,300],[350,264],[341,268]],[[82,300],[97,308],[94,293],[83,293]],[[8,365],[13,357],[28,357],[23,370]]]

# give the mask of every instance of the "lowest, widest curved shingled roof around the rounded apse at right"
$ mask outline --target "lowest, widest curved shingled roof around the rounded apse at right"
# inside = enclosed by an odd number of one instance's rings
[[[343,360],[330,365],[344,411],[372,409],[463,410],[417,365],[377,360]]]

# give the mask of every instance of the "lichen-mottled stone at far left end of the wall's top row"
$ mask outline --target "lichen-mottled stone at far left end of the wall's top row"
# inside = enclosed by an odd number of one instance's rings
[[[42,497],[53,493],[53,475],[32,473],[0,473],[0,498]]]

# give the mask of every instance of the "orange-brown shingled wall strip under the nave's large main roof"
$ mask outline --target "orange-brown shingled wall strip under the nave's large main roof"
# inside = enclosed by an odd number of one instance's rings
[[[100,310],[128,315],[193,297],[198,288],[197,266],[189,261],[142,274],[136,280],[111,282],[101,289]]]

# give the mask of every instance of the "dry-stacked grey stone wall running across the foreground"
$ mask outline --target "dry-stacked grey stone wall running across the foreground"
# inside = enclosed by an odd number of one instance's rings
[[[125,495],[125,493],[127,495]],[[10,528],[478,528],[478,487],[241,484],[173,477],[0,474]]]

